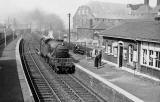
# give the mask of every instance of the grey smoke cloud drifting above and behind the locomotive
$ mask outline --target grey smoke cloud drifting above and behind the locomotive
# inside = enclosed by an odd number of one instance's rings
[[[58,15],[47,14],[40,9],[19,13],[16,15],[16,21],[18,24],[32,24],[56,31],[65,29],[64,22]]]

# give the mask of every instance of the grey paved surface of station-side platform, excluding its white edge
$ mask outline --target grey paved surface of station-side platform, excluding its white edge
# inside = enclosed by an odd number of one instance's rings
[[[78,61],[77,64],[83,68],[97,74],[144,102],[160,102],[160,85],[154,81],[124,71],[109,63],[103,63],[103,66],[97,69],[94,67],[94,60],[86,59],[85,56],[73,53],[72,55]]]

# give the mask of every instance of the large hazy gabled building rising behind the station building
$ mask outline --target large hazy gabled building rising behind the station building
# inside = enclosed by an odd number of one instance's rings
[[[144,4],[137,5],[92,1],[77,9],[73,16],[73,30],[76,32],[77,40],[93,39],[97,32],[123,24],[128,20],[153,19],[160,8],[159,2],[160,0],[157,0],[157,6],[151,8],[149,0],[144,0]]]

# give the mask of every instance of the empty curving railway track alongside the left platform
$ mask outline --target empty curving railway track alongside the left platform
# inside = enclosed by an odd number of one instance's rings
[[[41,73],[28,46],[27,43],[22,46],[24,49],[22,58],[35,100],[37,102],[62,102],[47,81],[48,79]]]

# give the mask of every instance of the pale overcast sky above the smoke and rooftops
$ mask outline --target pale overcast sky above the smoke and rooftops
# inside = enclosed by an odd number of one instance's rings
[[[78,6],[86,4],[93,0],[0,0],[0,18],[3,15],[14,13],[17,11],[32,10],[35,8],[42,9],[48,13],[56,13],[63,20],[67,19],[67,13],[71,12],[71,15],[75,13]],[[94,0],[95,1],[95,0]],[[112,3],[143,3],[144,0],[96,0]],[[150,0],[150,5],[154,6],[156,0]]]

